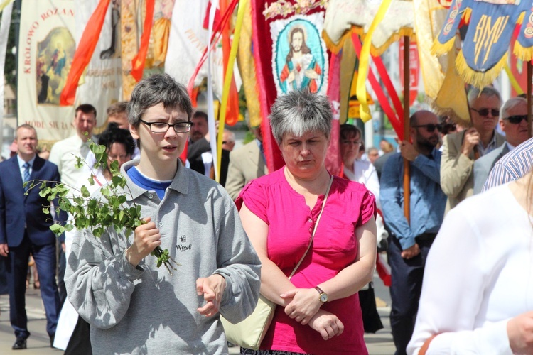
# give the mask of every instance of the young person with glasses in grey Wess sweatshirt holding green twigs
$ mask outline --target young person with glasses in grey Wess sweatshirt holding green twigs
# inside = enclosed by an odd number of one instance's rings
[[[65,275],[94,354],[225,354],[220,314],[240,322],[257,304],[259,258],[235,204],[178,159],[192,113],[187,90],[166,74],[131,94],[129,130],[141,157],[121,172],[126,207],[140,206],[146,224],[129,239],[114,229],[100,238],[78,231]],[[150,256],[157,246],[181,264],[172,274]]]

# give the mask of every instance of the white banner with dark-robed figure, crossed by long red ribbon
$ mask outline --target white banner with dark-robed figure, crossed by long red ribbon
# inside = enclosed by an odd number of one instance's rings
[[[88,21],[98,3],[99,0],[75,0],[76,43],[79,43],[86,26],[90,26]],[[77,87],[74,106],[92,104],[97,111],[99,129],[103,129],[107,124],[107,107],[120,101],[122,95],[119,21],[120,0],[113,0],[107,10],[95,52]]]

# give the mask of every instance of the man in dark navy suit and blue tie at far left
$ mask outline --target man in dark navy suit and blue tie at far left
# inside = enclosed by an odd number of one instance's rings
[[[28,190],[23,187],[23,182],[59,181],[60,175],[55,164],[36,155],[37,133],[32,126],[19,126],[15,142],[17,155],[0,163],[0,255],[6,257],[9,320],[16,336],[13,349],[17,350],[26,349],[26,339],[30,336],[25,300],[30,253],[36,261],[41,281],[50,346],[60,310],[55,283],[55,235],[49,229],[53,221],[43,212],[43,207],[50,202],[39,196],[38,187]]]

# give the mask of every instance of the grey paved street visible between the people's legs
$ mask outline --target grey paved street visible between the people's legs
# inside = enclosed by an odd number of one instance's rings
[[[378,307],[379,315],[382,317],[384,329],[376,334],[365,335],[368,351],[372,355],[394,354],[394,345],[390,334],[389,312],[390,297],[389,290],[385,288],[382,281],[375,276],[375,293],[377,297],[384,300],[386,307]],[[59,349],[50,349],[48,334],[46,334],[45,312],[41,302],[39,290],[30,288],[26,292],[26,310],[28,312],[28,329],[31,337],[28,338],[27,350],[11,350],[15,338],[13,329],[9,324],[9,297],[0,295],[0,354],[18,355],[41,355],[41,354],[61,354]],[[230,354],[239,354],[237,346],[230,348]]]

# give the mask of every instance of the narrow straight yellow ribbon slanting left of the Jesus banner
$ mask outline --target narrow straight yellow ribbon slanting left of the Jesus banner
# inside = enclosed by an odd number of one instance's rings
[[[218,139],[217,139],[217,167],[220,171],[222,165],[222,135],[224,134],[224,125],[226,123],[227,99],[230,94],[230,85],[232,83],[233,65],[235,65],[235,58],[237,57],[237,49],[239,48],[239,40],[241,37],[242,20],[246,12],[246,5],[248,0],[239,1],[239,9],[237,10],[237,23],[235,23],[235,32],[233,33],[232,48],[230,50],[230,58],[227,60],[226,76],[224,78],[224,87],[222,88],[222,103],[220,104],[220,116],[218,125]],[[220,173],[215,179],[220,182]]]

